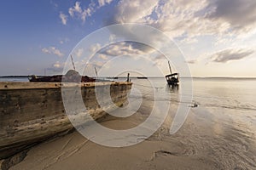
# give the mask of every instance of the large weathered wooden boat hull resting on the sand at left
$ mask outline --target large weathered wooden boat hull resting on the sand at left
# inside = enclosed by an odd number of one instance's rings
[[[67,76],[67,75],[66,75]],[[58,77],[60,78],[60,77]],[[61,77],[63,78],[63,77]],[[33,82],[36,80],[35,82]],[[127,102],[131,82],[0,82],[0,159],[25,150],[31,144],[73,128],[61,97],[68,84],[81,89],[84,105],[94,119],[104,116],[104,108]],[[42,80],[42,79],[41,79]],[[102,92],[110,86],[111,101],[98,105],[95,88]]]

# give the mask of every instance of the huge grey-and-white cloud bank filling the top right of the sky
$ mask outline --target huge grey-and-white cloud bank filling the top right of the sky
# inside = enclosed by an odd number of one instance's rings
[[[193,42],[195,37],[209,35],[236,38],[256,31],[255,5],[255,0],[123,0],[113,9],[106,25],[142,23],[170,38],[183,37]]]

